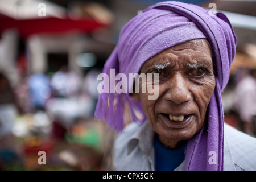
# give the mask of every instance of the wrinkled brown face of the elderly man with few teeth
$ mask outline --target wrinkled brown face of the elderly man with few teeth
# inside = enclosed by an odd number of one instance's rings
[[[141,101],[150,126],[164,146],[174,148],[172,141],[187,140],[201,129],[215,87],[206,40],[168,48],[147,60],[140,73],[159,74],[156,100],[148,100],[148,93],[135,94],[134,98]]]

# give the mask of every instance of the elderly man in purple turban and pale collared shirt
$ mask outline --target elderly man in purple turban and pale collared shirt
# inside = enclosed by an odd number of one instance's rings
[[[224,14],[169,1],[131,19],[104,73],[156,79],[129,80],[122,85],[129,92],[99,96],[96,118],[122,131],[114,169],[255,170],[255,139],[224,124],[221,91],[235,54],[236,36]],[[158,97],[131,92],[137,84],[140,90],[151,85]],[[125,106],[134,121],[126,127]]]

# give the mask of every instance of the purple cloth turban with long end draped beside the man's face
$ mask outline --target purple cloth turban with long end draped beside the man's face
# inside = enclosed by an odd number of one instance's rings
[[[143,63],[165,49],[194,39],[207,39],[212,49],[216,87],[210,99],[203,128],[189,139],[185,151],[185,170],[222,170],[224,112],[221,91],[229,80],[229,71],[236,54],[236,36],[229,20],[222,13],[210,16],[208,10],[187,3],[167,1],[148,7],[130,20],[121,30],[119,41],[103,72],[115,75],[139,73]],[[125,105],[133,121],[146,121],[140,102],[129,96],[134,81],[127,82],[126,93],[102,93],[98,98],[97,119],[109,123],[116,131],[123,129]],[[139,115],[138,113],[141,113]],[[216,152],[217,165],[208,162]]]

